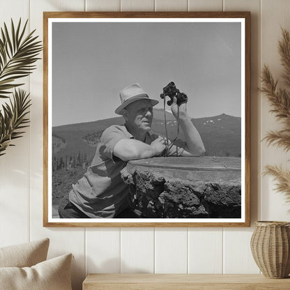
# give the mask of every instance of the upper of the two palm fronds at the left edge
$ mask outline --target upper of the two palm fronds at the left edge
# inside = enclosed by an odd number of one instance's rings
[[[21,86],[15,83],[15,79],[26,77],[35,69],[34,63],[39,59],[37,56],[43,49],[40,41],[36,41],[38,36],[33,36],[35,30],[24,36],[28,20],[21,27],[21,19],[15,29],[11,20],[11,31],[9,33],[4,22],[0,29],[0,98],[8,98],[8,91]]]

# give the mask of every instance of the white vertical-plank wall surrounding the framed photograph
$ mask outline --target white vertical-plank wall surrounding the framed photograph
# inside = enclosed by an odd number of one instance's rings
[[[260,96],[261,66],[275,77],[280,26],[290,29],[289,0],[0,0],[0,20],[29,18],[43,37],[43,11],[148,10],[239,11],[252,13],[252,224],[256,220],[289,220],[289,206],[261,177],[266,164],[287,164],[282,150],[261,138],[278,128]],[[43,66],[27,78],[31,92],[31,127],[0,157],[0,246],[49,237],[49,257],[73,252],[73,286],[81,289],[86,273],[259,273],[250,252],[250,228],[43,228]]]

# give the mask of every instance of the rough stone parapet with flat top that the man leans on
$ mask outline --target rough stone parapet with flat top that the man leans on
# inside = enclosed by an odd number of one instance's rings
[[[241,158],[149,158],[121,174],[140,217],[241,217]]]

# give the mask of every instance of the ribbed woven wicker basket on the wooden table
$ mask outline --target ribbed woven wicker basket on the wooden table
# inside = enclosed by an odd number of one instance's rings
[[[256,222],[251,250],[261,272],[269,278],[285,278],[290,273],[290,223]]]

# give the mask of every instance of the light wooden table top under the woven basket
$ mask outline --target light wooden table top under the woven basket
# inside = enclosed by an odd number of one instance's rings
[[[283,290],[289,279],[225,274],[89,274],[83,290]]]

